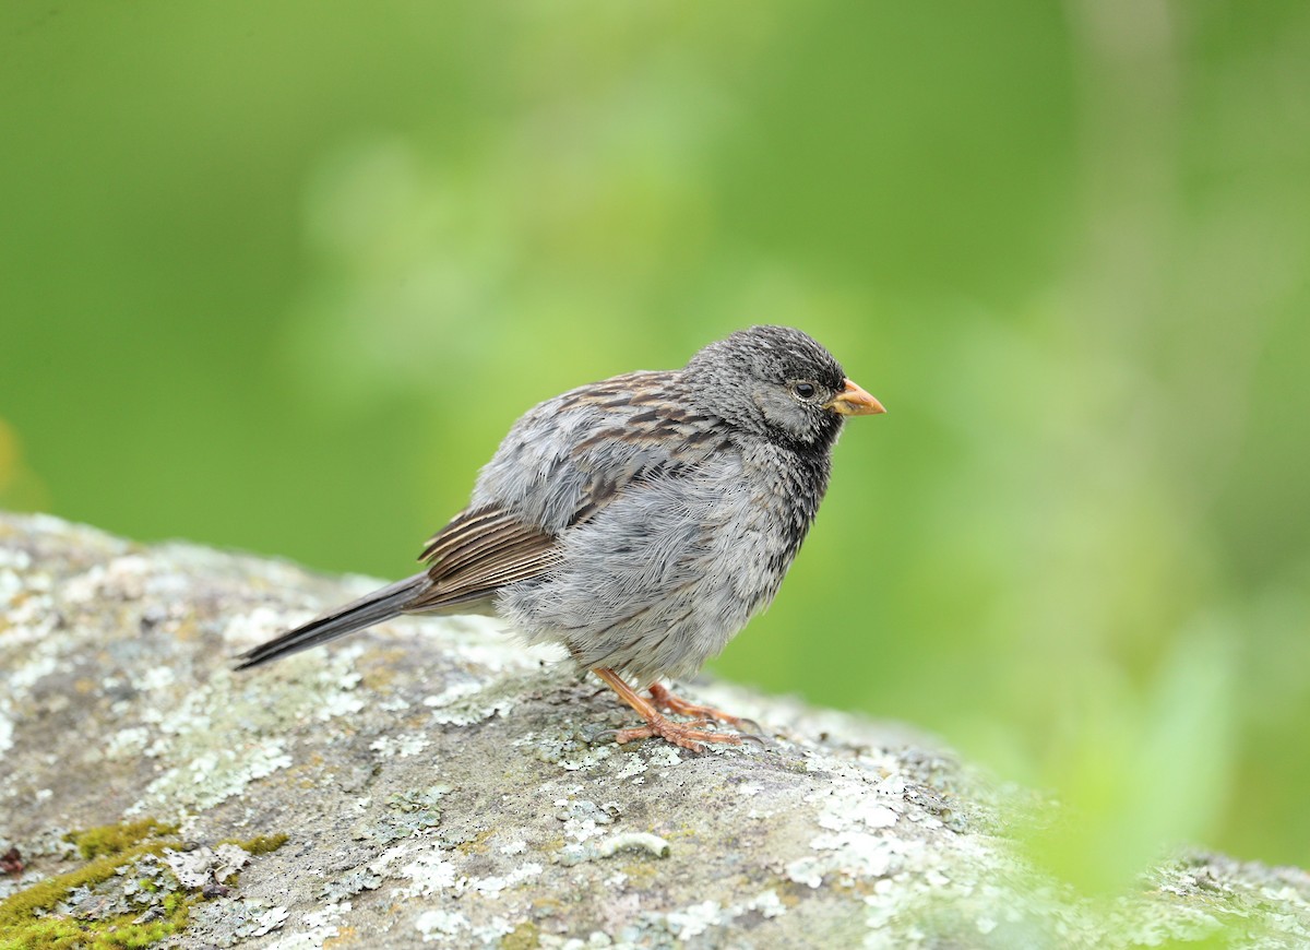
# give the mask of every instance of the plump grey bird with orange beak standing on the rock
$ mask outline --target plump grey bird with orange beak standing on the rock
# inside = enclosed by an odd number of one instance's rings
[[[491,615],[528,643],[562,645],[637,712],[645,725],[617,730],[618,743],[740,743],[744,719],[660,681],[693,676],[773,600],[846,417],[884,411],[820,343],[772,325],[713,342],[681,370],[571,389],[511,426],[468,506],[423,546],[422,571],[236,668],[401,615]]]

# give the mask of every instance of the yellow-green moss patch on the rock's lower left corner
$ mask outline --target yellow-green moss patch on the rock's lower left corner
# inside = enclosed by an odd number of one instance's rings
[[[75,888],[94,887],[114,877],[118,867],[147,854],[160,856],[166,848],[179,849],[182,843],[174,839],[144,840],[172,835],[174,831],[174,826],[143,819],[69,832],[66,839],[77,845],[79,853],[88,864],[39,881],[0,903],[0,950],[141,947],[183,928],[191,903],[200,899],[198,894],[170,894],[162,902],[164,916],[143,924],[132,922],[141,915],[139,908],[97,921],[51,913]]]

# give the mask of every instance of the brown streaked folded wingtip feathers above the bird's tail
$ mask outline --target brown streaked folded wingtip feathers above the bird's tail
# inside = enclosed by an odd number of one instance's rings
[[[461,511],[428,540],[419,560],[428,565],[431,586],[406,612],[481,600],[503,584],[540,577],[558,563],[559,549],[553,535],[493,504]]]

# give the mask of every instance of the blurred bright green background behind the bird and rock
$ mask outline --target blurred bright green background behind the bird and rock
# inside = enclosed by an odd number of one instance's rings
[[[1310,4],[0,7],[0,506],[400,577],[752,322],[848,428],[714,670],[1310,865]]]

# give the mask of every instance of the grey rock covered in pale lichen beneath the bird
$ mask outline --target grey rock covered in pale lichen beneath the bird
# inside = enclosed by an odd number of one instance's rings
[[[724,685],[762,746],[617,747],[608,689],[481,618],[234,674],[358,595],[0,515],[0,947],[1310,945],[1310,877],[1043,878],[1036,808],[904,729]]]

